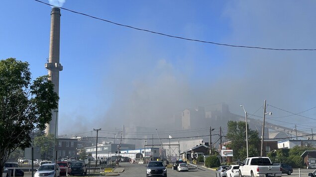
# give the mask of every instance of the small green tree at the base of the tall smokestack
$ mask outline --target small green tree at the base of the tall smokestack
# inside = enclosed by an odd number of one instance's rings
[[[36,136],[34,139],[34,146],[40,148],[41,158],[47,159],[47,151],[54,145],[55,136],[53,134]]]

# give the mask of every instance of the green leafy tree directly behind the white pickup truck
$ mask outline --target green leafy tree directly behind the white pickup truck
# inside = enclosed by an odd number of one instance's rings
[[[244,121],[232,121],[227,122],[227,134],[226,139],[231,141],[227,144],[227,147],[230,147],[233,150],[234,160],[240,159],[243,161],[247,157],[247,148],[246,148],[246,123]],[[258,131],[251,130],[247,126],[248,133],[248,155],[249,156],[258,156],[259,155],[259,146],[260,139],[258,136]]]

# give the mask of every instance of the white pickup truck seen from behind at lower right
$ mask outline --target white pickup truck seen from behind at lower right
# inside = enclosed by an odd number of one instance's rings
[[[239,177],[281,177],[282,168],[269,157],[249,157],[239,164]]]

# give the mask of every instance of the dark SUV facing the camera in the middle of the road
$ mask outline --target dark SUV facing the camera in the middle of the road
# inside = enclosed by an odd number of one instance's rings
[[[146,177],[167,177],[166,165],[162,161],[150,161],[146,169]]]

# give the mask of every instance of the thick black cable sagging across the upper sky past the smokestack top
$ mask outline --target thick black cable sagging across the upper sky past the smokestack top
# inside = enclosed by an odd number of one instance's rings
[[[73,13],[77,13],[77,14],[85,15],[85,16],[88,16],[88,17],[91,17],[91,18],[95,18],[97,20],[102,20],[102,21],[105,21],[105,22],[108,22],[108,23],[112,23],[112,24],[115,24],[115,25],[119,25],[119,26],[123,26],[123,27],[127,27],[127,28],[132,28],[132,29],[139,30],[139,31],[145,31],[145,32],[153,33],[153,34],[158,34],[158,35],[162,35],[162,36],[167,36],[167,37],[171,37],[171,38],[187,40],[187,41],[195,41],[195,42],[208,43],[208,44],[214,44],[214,45],[219,45],[219,46],[227,46],[227,47],[274,50],[274,51],[316,51],[316,49],[277,49],[277,48],[264,48],[264,47],[253,47],[253,46],[240,46],[240,45],[231,45],[231,44],[215,43],[215,42],[210,42],[210,41],[203,41],[203,40],[197,40],[197,39],[184,38],[184,37],[180,37],[180,36],[173,36],[173,35],[169,35],[169,34],[165,34],[165,33],[150,31],[150,30],[141,29],[141,28],[136,28],[136,27],[129,26],[129,25],[123,25],[123,24],[120,24],[120,23],[116,23],[116,22],[112,22],[112,21],[109,21],[109,20],[105,20],[103,18],[99,18],[99,17],[95,17],[95,16],[92,16],[92,15],[88,15],[86,13],[81,13],[81,12],[70,10],[70,9],[67,9],[67,8],[64,8],[64,7],[51,5],[49,3],[46,3],[46,2],[43,2],[43,1],[40,1],[40,0],[35,0],[35,1],[44,3],[46,5],[58,7],[58,8],[61,8],[61,9],[64,9],[64,10],[67,10],[67,11],[70,11],[70,12],[73,12]]]

